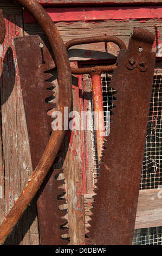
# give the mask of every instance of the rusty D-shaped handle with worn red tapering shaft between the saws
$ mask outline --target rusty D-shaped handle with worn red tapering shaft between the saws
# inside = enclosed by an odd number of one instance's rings
[[[65,46],[67,50],[74,45],[82,45],[82,44],[93,44],[94,42],[113,42],[118,45],[120,49],[126,50],[126,45],[124,42],[117,38],[116,36],[109,35],[100,35],[100,36],[91,36],[88,38],[77,38],[72,39],[66,42]],[[102,147],[105,133],[105,121],[103,115],[103,98],[102,98],[102,82],[101,82],[101,73],[113,71],[117,67],[117,64],[106,65],[106,66],[93,66],[88,68],[72,68],[72,74],[81,75],[81,74],[89,74],[92,78],[92,92],[93,92],[93,105],[94,112],[97,114],[94,115],[95,126],[98,129],[95,131],[96,133],[96,145],[98,152],[98,162],[100,161],[100,157],[102,155]]]

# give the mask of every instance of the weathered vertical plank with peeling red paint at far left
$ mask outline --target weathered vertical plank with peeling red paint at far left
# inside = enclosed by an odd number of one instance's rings
[[[22,15],[5,15],[6,36],[3,43],[1,104],[2,104],[2,141],[3,141],[3,202],[1,223],[4,216],[16,202],[22,189],[33,172],[31,168],[30,149],[27,127],[23,109],[20,78],[18,75],[17,58],[14,47],[14,37],[23,36]],[[2,200],[2,199],[0,199]],[[26,236],[26,234],[28,235]],[[35,202],[28,208],[6,244],[18,245],[26,243],[30,233],[35,233],[37,239],[32,244],[38,244],[38,224]]]

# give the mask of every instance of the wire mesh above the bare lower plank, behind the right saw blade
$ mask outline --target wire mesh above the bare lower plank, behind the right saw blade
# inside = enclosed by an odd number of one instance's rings
[[[102,76],[104,114],[115,107],[116,91],[109,87],[111,75]],[[162,185],[162,75],[155,75],[152,87],[150,112],[147,125],[144,161],[140,189],[158,188]],[[110,114],[113,114],[112,112]]]

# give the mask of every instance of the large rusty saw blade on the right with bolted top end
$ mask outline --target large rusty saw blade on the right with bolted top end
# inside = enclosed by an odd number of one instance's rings
[[[154,35],[135,28],[120,50],[110,86],[117,91],[110,135],[103,144],[89,245],[132,245],[150,108]]]

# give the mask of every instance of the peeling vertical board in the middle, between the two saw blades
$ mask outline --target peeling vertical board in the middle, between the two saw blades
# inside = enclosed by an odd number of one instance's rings
[[[72,65],[76,66],[75,63],[72,63]],[[77,76],[73,76],[72,88],[72,111],[80,113],[82,109],[82,96]],[[75,113],[73,114],[75,115]],[[72,120],[70,122],[72,123]],[[66,157],[63,163],[63,169],[64,178],[67,181],[66,198],[68,202],[68,228],[70,245],[84,245],[85,228],[83,193],[85,192],[85,167],[84,164],[82,164],[82,147],[84,145],[82,131],[76,130],[74,123],[72,130],[67,132],[64,143]]]

